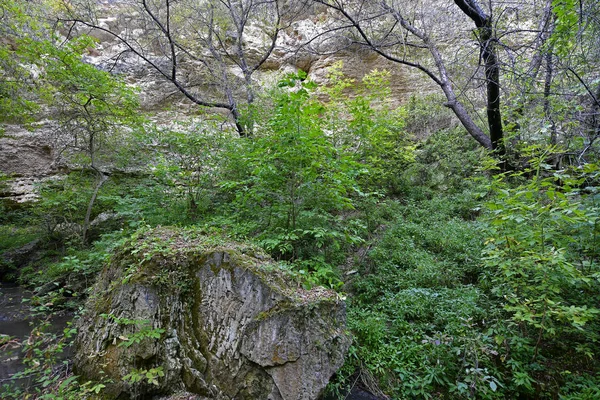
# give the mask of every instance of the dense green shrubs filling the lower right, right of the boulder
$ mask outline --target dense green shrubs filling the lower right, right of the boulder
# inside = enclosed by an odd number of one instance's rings
[[[408,198],[367,219],[379,233],[352,281],[335,387],[359,374],[393,398],[594,398],[598,166],[555,171],[536,147],[526,171],[463,182],[474,168],[459,159],[485,160],[448,133],[404,173],[419,185]]]

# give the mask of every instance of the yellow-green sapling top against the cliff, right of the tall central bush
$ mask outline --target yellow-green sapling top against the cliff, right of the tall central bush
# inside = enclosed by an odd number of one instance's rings
[[[405,129],[406,109],[393,108],[388,71],[374,70],[360,85],[344,78],[342,64],[330,68],[329,97],[322,111],[337,147],[352,153],[365,172],[358,178],[363,190],[395,193],[401,171],[414,162],[416,146]],[[353,87],[354,96],[348,96]]]

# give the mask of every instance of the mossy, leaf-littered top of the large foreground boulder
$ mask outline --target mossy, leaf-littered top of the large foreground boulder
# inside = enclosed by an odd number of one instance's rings
[[[195,271],[206,263],[215,274],[223,269],[231,273],[236,268],[249,270],[275,292],[299,303],[313,301],[315,296],[337,299],[333,291],[319,289],[317,294],[314,289],[297,287],[294,277],[254,245],[220,235],[207,236],[193,228],[137,231],[113,256],[108,274],[113,287],[140,283],[158,286],[162,293],[185,294],[194,289]]]

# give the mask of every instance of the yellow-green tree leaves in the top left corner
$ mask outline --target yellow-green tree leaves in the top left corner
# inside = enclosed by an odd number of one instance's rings
[[[38,103],[45,103],[60,114],[65,132],[88,139],[79,137],[69,145],[94,153],[101,140],[94,144],[90,138],[137,119],[135,93],[116,77],[82,61],[82,54],[94,47],[93,39],[78,36],[58,45],[44,23],[49,12],[44,3],[3,0],[0,10],[7,22],[0,44],[0,70],[6,77],[0,90],[3,120],[31,121]]]

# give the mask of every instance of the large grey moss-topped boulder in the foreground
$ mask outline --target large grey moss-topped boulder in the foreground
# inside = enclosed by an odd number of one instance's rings
[[[186,390],[316,399],[350,345],[344,303],[323,288],[299,289],[254,248],[223,243],[164,228],[134,236],[80,321],[77,373],[112,380],[103,392],[111,398]],[[123,379],[132,372],[144,378]]]

